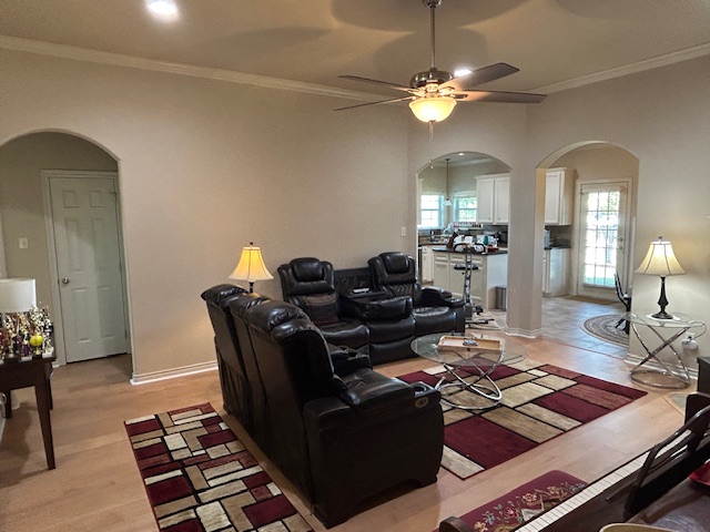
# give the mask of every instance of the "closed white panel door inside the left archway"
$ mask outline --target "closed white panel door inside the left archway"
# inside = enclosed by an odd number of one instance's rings
[[[50,177],[62,331],[68,362],[128,351],[112,177]]]

